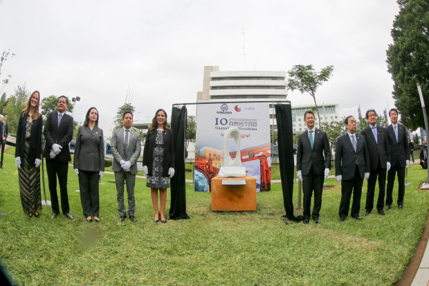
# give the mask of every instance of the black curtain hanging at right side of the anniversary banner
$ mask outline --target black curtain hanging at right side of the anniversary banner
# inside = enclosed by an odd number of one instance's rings
[[[295,222],[303,219],[302,215],[293,214],[293,132],[291,105],[275,105],[277,121],[277,145],[279,149],[280,177],[282,179],[284,217]]]

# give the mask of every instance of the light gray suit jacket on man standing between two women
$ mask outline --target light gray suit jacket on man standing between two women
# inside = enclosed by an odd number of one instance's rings
[[[129,172],[131,174],[137,174],[137,159],[140,156],[142,143],[140,140],[140,134],[135,132],[131,128],[131,132],[129,132],[129,143],[128,143],[128,150],[127,153],[131,156],[129,156],[129,163],[131,163],[131,168],[129,168]],[[124,151],[125,151],[125,145],[124,145],[124,129],[123,127],[120,129],[116,129],[113,132],[113,135],[111,136],[110,141],[110,150],[111,154],[113,155],[113,164],[111,168],[113,171],[120,172],[122,170],[122,167],[120,166],[120,161],[124,158]]]

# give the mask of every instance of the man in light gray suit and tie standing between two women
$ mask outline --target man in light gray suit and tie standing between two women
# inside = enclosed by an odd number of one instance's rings
[[[115,130],[111,137],[111,154],[113,154],[113,164],[111,168],[115,171],[116,198],[118,199],[119,222],[127,218],[127,213],[131,222],[136,222],[134,212],[136,211],[136,199],[134,198],[134,186],[136,185],[137,159],[141,152],[140,134],[131,129],[133,124],[133,114],[125,111],[122,114],[124,127]],[[128,211],[125,211],[124,185],[127,184]]]

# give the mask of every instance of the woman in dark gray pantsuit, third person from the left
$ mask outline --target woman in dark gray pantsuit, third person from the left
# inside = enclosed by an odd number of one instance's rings
[[[73,169],[79,179],[80,202],[87,222],[100,222],[100,197],[98,179],[104,172],[104,136],[98,128],[98,110],[91,107],[86,112],[84,125],[77,130]]]

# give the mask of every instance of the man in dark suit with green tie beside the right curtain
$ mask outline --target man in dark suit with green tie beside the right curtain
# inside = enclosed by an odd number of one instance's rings
[[[314,128],[313,111],[304,113],[307,131],[298,137],[297,170],[302,180],[304,192],[304,224],[308,224],[311,211],[311,195],[314,190],[313,220],[320,224],[319,213],[322,206],[323,181],[331,169],[331,149],[325,131]],[[323,153],[325,152],[325,157]]]

